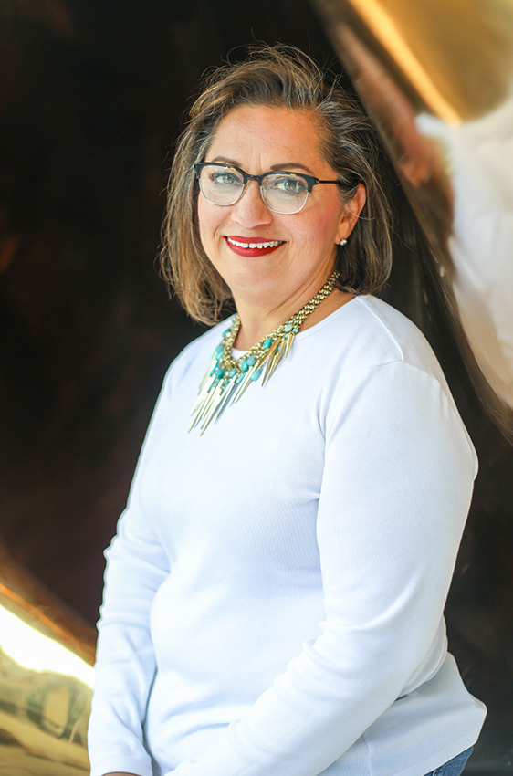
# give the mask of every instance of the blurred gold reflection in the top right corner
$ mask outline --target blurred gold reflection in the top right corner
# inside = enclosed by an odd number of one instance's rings
[[[444,121],[469,121],[508,98],[511,0],[317,0],[316,5],[348,67],[335,26],[349,27],[372,49],[416,110],[430,110]]]

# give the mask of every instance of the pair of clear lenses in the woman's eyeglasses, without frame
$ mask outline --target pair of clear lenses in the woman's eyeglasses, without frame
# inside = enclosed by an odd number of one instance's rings
[[[244,177],[231,167],[208,164],[200,173],[204,198],[214,204],[235,204],[244,190]],[[309,196],[307,181],[295,173],[268,173],[262,179],[260,192],[264,202],[275,213],[298,213]]]

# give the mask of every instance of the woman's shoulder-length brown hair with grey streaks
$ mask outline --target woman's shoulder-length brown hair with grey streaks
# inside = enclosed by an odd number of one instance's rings
[[[366,203],[347,246],[337,249],[336,268],[340,288],[356,294],[377,291],[392,265],[392,214],[376,131],[336,76],[323,72],[296,47],[263,46],[205,79],[177,143],[162,226],[161,267],[183,307],[195,320],[212,324],[231,299],[199,236],[193,164],[204,161],[226,114],[242,105],[309,111],[319,123],[320,152],[340,180],[342,202],[351,201],[359,184],[365,186]]]

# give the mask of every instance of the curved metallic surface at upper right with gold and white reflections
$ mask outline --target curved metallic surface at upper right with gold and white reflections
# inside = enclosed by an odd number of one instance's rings
[[[513,3],[317,5],[430,241],[478,393],[512,435]]]

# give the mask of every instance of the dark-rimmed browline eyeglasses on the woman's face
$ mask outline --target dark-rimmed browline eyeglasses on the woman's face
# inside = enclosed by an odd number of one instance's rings
[[[197,162],[194,172],[204,198],[212,204],[236,204],[244,194],[248,181],[257,181],[260,195],[273,213],[292,215],[307,204],[309,193],[318,184],[337,184],[340,181],[320,181],[305,173],[262,173],[250,175],[231,164]]]

